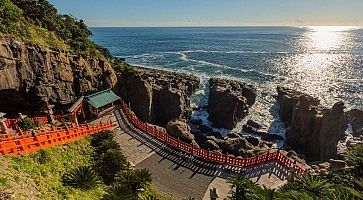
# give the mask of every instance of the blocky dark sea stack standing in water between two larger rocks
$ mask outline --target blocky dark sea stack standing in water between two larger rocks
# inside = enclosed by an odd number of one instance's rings
[[[217,128],[233,129],[255,103],[256,89],[240,81],[221,78],[212,78],[209,84],[209,120]]]

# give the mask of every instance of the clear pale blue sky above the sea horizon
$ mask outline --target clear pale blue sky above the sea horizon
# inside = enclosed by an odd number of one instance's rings
[[[91,27],[363,26],[363,0],[49,0]]]

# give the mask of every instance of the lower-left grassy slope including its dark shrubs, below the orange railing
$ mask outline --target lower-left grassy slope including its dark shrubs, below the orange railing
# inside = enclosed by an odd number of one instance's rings
[[[105,131],[26,156],[0,157],[0,193],[10,190],[16,199],[163,199],[150,189],[151,174],[130,169],[115,144]]]

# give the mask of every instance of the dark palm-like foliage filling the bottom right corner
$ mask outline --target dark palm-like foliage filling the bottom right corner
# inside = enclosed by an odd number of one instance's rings
[[[361,173],[363,151],[356,146],[347,154],[347,161],[354,164],[354,169],[334,172],[329,175],[304,175],[288,182],[283,187],[273,190],[261,188],[242,176],[229,180],[235,191],[233,200],[358,200],[363,199],[363,177]]]

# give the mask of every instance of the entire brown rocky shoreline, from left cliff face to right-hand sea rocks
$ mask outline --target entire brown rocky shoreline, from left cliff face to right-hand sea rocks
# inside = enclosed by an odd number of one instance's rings
[[[116,73],[107,60],[28,45],[12,38],[0,38],[0,44],[2,111],[39,110],[46,103],[62,107],[87,93],[114,88],[140,120],[204,149],[249,157],[266,153],[273,142],[285,140],[262,130],[253,120],[243,125],[245,136],[230,133],[223,137],[216,131],[231,130],[248,116],[257,97],[258,88],[253,85],[211,78],[208,106],[204,108],[211,124],[206,125],[200,119],[191,119],[191,98],[201,84],[194,75],[136,66],[131,72]],[[301,163],[306,159],[339,164],[344,149],[363,143],[361,110],[346,111],[343,102],[327,108],[317,98],[284,87],[277,87],[276,101],[286,128],[283,149]],[[348,125],[352,135],[346,133]],[[343,146],[342,140],[346,141]]]

